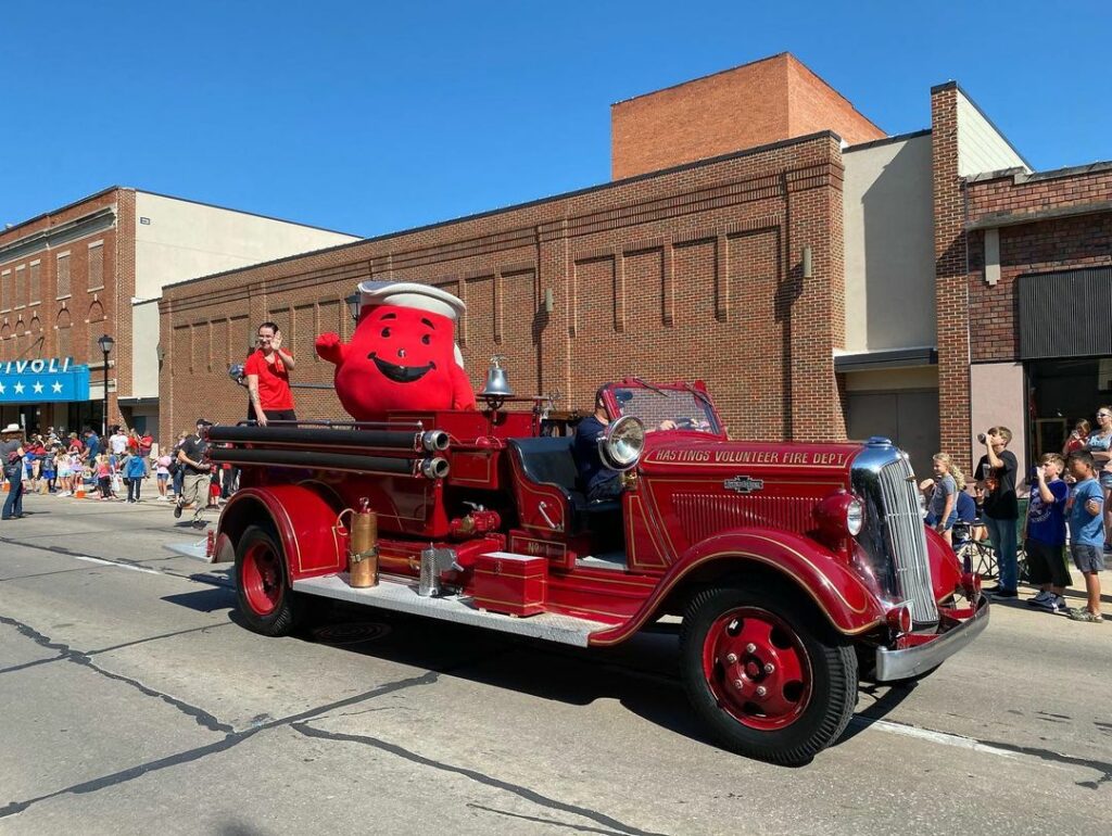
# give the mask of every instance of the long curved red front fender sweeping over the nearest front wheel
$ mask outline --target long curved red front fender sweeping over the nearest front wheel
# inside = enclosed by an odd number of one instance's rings
[[[856,636],[884,620],[881,603],[843,558],[798,534],[744,528],[723,531],[688,549],[632,619],[592,634],[590,644],[613,645],[628,638],[685,577],[716,560],[757,563],[780,573],[811,596],[834,629],[843,635]]]

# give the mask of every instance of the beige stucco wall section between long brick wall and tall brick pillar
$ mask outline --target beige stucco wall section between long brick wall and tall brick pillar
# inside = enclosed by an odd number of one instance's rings
[[[930,135],[854,150],[845,165],[845,349],[935,345]]]

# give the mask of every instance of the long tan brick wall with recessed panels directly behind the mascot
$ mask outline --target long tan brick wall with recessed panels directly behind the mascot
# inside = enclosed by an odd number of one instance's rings
[[[226,369],[266,318],[295,349],[295,379],[329,382],[312,339],[337,325],[349,336],[341,300],[374,277],[467,302],[459,341],[476,388],[492,354],[507,358],[517,392],[559,390],[562,408],[589,407],[624,375],[703,378],[735,436],[842,438],[841,188],[837,138],[823,133],[170,286],[160,431],[242,418],[246,394]],[[344,417],[331,391],[295,397],[302,418]]]

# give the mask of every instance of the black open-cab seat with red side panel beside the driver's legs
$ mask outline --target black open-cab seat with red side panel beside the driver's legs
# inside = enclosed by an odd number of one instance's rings
[[[572,455],[574,440],[570,436],[509,439],[510,456],[519,477],[515,486],[518,510],[527,526],[557,530],[548,525],[544,515],[532,511],[538,501],[546,498],[549,519],[562,525],[567,534],[585,530],[595,514],[620,510],[622,504],[617,500],[592,502],[579,490],[579,474]],[[550,504],[557,498],[562,506],[560,519],[556,519],[550,509]]]

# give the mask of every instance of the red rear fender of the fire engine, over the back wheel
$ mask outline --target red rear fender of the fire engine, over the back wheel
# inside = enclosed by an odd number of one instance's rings
[[[281,539],[290,580],[342,571],[347,541],[337,531],[336,514],[327,499],[302,485],[241,488],[220,515],[218,555],[228,554],[219,546],[232,546],[247,526],[270,522]]]

